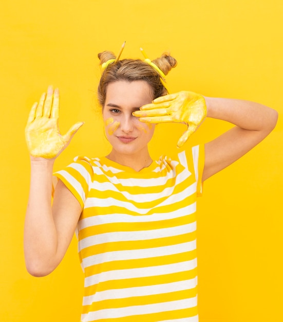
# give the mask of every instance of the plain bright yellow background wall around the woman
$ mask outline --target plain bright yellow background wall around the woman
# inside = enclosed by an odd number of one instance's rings
[[[97,53],[178,60],[172,92],[242,98],[282,114],[283,2],[281,0],[17,0],[0,10],[0,321],[80,319],[83,274],[74,238],[50,276],[25,270],[23,226],[29,186],[24,128],[47,85],[61,90],[61,130],[83,128],[58,159],[103,155],[96,87]],[[191,142],[210,140],[230,124],[206,120]],[[153,155],[173,153],[183,126],[160,125]],[[200,322],[283,321],[282,120],[234,165],[210,178],[199,200]],[[162,143],[161,143],[162,141]],[[146,322],[146,321],[145,321]]]

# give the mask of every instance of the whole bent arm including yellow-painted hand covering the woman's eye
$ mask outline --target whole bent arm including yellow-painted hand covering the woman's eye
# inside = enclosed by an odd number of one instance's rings
[[[198,129],[206,116],[235,124],[230,131],[205,144],[203,181],[256,146],[272,131],[278,117],[275,110],[258,103],[203,97],[185,91],[159,97],[133,114],[140,117],[141,122],[187,124],[178,147]]]

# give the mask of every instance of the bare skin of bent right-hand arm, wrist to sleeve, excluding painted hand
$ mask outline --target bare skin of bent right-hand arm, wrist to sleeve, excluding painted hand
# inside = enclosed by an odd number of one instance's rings
[[[265,138],[275,127],[278,113],[250,101],[205,97],[207,117],[235,124],[205,144],[203,181],[229,166]]]

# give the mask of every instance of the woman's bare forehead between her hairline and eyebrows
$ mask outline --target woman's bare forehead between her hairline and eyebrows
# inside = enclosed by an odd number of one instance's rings
[[[108,84],[105,104],[141,106],[150,103],[152,100],[152,90],[147,82],[142,80],[117,81]]]

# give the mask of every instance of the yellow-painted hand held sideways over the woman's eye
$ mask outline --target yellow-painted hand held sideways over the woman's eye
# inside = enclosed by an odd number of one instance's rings
[[[141,122],[177,122],[187,124],[187,130],[178,140],[181,147],[200,126],[206,116],[206,104],[202,95],[182,91],[156,98],[151,104],[141,106],[134,112]]]

